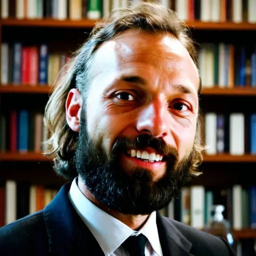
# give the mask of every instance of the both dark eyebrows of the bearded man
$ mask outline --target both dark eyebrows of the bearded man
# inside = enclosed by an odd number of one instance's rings
[[[146,80],[138,75],[122,75],[118,78],[119,81],[131,82],[140,85],[145,85],[147,82]],[[173,84],[172,85],[174,90],[184,94],[195,94],[189,87],[182,85],[182,84]]]

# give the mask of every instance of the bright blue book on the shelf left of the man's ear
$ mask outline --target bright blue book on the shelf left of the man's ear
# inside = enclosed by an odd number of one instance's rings
[[[22,109],[18,112],[18,151],[28,151],[28,123],[29,123],[28,110]]]

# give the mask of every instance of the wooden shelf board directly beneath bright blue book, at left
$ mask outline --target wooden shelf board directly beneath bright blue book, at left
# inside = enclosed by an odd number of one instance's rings
[[[0,152],[0,161],[50,161],[50,158],[35,152]]]

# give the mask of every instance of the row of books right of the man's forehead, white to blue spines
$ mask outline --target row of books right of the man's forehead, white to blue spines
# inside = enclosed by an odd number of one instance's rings
[[[256,47],[202,43],[198,64],[204,87],[256,87]]]

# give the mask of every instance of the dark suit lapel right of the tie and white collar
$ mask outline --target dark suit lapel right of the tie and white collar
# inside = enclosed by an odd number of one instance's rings
[[[156,225],[163,256],[193,256],[192,244],[171,223],[171,219],[156,214]]]

